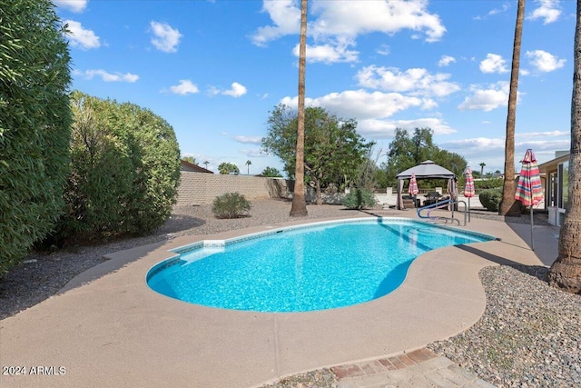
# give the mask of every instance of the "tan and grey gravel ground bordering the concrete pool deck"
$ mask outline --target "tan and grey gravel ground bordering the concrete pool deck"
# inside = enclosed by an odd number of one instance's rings
[[[53,254],[31,253],[0,280],[0,319],[5,319],[54,295],[64,284],[96,264],[103,254],[143,244],[168,241],[186,234],[214,234],[296,219],[286,201],[252,201],[250,216],[219,220],[210,205],[175,207],[172,218],[146,237],[123,239],[97,246],[72,246]],[[310,205],[306,219],[361,216],[335,205]],[[392,214],[398,213],[393,211]],[[481,212],[478,217],[497,219]],[[546,217],[545,217],[546,218]],[[510,222],[527,223],[528,217]],[[537,224],[544,223],[542,217]],[[480,272],[487,294],[482,318],[466,332],[428,348],[498,387],[581,386],[581,295],[560,292],[544,281],[541,266],[491,266]],[[380,356],[381,354],[378,354]],[[271,387],[336,386],[329,369],[300,373]]]

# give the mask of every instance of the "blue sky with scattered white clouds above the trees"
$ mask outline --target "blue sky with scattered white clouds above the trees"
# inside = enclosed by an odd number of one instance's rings
[[[269,112],[296,107],[300,0],[54,0],[73,89],[162,116],[183,156],[260,174]],[[473,170],[503,171],[517,0],[310,0],[306,103],[358,121],[385,154],[430,127]],[[570,144],[576,2],[527,0],[516,169]],[[379,156],[379,162],[385,160]]]

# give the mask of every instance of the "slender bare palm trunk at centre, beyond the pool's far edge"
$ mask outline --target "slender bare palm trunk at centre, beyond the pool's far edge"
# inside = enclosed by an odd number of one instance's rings
[[[307,213],[305,201],[305,64],[307,58],[307,0],[300,0],[300,43],[299,43],[299,103],[297,125],[297,152],[294,170],[294,193],[291,217],[304,217]]]

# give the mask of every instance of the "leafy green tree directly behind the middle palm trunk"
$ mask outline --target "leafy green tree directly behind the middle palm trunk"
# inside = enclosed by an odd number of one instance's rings
[[[264,150],[279,156],[291,177],[295,171],[297,121],[291,108],[277,105],[269,117],[268,134],[262,139]],[[353,119],[340,119],[320,107],[305,109],[305,179],[315,186],[317,204],[322,203],[322,187],[356,181],[359,164],[373,145],[366,143],[356,128]]]

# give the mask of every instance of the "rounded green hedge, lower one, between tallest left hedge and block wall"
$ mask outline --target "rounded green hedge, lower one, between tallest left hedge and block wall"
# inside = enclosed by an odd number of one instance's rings
[[[147,234],[172,212],[180,149],[170,124],[135,104],[74,92],[67,214],[53,236],[103,240]]]

